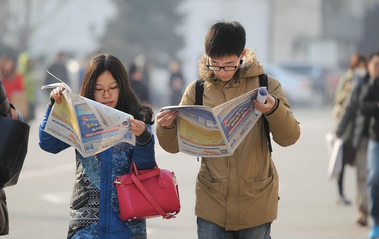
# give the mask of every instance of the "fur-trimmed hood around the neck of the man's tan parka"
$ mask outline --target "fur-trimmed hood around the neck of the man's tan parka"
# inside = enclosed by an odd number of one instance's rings
[[[255,52],[252,49],[246,49],[246,56],[243,63],[235,73],[232,79],[240,81],[243,77],[254,77],[265,73],[263,66],[255,58]],[[204,54],[199,60],[199,77],[205,82],[220,81],[215,78],[213,71],[207,68],[207,56]]]

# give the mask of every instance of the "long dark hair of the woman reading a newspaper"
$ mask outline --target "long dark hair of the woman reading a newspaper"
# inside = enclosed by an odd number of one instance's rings
[[[150,105],[141,102],[129,84],[125,68],[117,57],[109,54],[100,54],[89,63],[83,77],[80,95],[94,99],[94,89],[97,77],[104,71],[111,72],[113,78],[120,86],[119,99],[116,109],[131,114],[135,119],[146,124],[154,123],[153,110]]]

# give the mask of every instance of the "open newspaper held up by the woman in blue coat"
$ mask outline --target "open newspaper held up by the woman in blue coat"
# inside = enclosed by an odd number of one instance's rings
[[[132,115],[74,94],[61,80],[42,86],[42,89],[56,87],[65,90],[61,103],[54,104],[50,111],[46,133],[73,146],[83,157],[100,153],[120,142],[135,145],[135,134],[129,130]]]

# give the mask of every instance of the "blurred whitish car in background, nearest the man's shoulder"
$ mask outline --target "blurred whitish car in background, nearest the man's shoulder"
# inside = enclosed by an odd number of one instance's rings
[[[319,96],[313,90],[310,77],[290,71],[278,65],[265,63],[265,73],[279,80],[288,103],[292,105],[316,106],[320,104]]]

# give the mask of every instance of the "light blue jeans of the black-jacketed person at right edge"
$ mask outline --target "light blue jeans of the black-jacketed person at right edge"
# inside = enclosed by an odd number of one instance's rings
[[[371,139],[367,149],[367,188],[369,210],[375,225],[379,225],[379,142]]]

